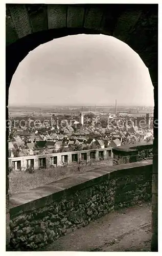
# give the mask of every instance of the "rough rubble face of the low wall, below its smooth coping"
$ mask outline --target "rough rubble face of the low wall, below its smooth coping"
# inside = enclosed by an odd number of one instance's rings
[[[152,165],[120,169],[52,204],[11,215],[10,250],[39,250],[108,212],[151,199]]]

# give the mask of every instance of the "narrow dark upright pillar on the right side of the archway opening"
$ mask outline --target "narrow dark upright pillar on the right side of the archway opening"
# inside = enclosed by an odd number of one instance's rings
[[[158,251],[158,88],[154,85],[154,141],[152,170],[152,238],[151,251]]]

